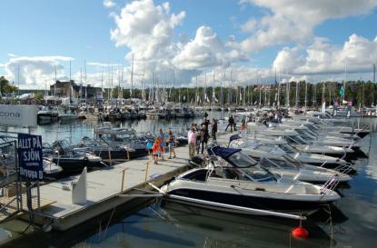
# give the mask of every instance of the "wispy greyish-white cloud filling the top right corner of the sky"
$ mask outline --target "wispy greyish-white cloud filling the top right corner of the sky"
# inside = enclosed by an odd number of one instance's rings
[[[313,37],[315,26],[328,19],[351,15],[366,15],[377,6],[377,0],[242,0],[242,4],[259,6],[268,14],[255,21],[253,18],[242,25],[242,30],[252,34],[234,47],[248,53],[264,47],[299,43]]]

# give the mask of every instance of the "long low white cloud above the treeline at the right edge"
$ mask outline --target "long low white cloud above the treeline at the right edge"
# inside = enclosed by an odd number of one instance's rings
[[[289,74],[342,74],[372,71],[377,62],[377,38],[368,40],[351,35],[343,45],[331,45],[324,38],[315,38],[306,49],[284,47],[273,66]]]

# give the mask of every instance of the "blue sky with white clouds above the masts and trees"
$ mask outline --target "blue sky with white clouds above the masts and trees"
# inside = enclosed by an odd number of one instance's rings
[[[0,75],[134,86],[372,80],[377,0],[0,1]],[[134,69],[132,70],[134,57]],[[158,83],[157,83],[158,82]],[[198,83],[196,83],[198,82]]]

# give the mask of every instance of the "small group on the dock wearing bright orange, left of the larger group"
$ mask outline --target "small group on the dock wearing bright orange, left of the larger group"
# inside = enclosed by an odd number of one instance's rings
[[[154,142],[148,141],[147,148],[149,153],[152,155],[154,164],[158,164],[158,160],[164,161],[165,149],[169,150],[169,159],[175,157],[175,148],[176,141],[173,135],[172,130],[169,130],[169,133],[166,137],[163,129],[160,129],[159,134],[155,137]]]

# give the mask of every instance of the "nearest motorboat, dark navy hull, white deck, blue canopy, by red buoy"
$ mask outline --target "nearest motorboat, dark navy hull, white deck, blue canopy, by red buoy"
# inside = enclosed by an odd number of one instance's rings
[[[253,210],[253,214],[310,214],[322,204],[341,198],[333,191],[336,180],[320,186],[284,178],[271,174],[240,151],[219,146],[209,149],[212,164],[175,177],[161,192],[166,199],[180,203],[236,213]]]

